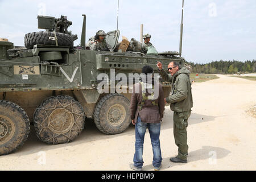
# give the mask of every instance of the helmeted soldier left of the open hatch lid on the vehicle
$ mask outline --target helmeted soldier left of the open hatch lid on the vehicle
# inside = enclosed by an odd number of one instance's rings
[[[90,45],[90,50],[113,52],[113,48],[108,43],[106,43],[105,36],[106,34],[103,30],[97,31],[94,42]]]

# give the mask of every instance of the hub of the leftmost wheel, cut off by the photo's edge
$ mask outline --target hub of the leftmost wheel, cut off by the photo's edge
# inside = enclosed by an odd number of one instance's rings
[[[10,118],[0,115],[0,144],[8,142],[13,138],[15,125]]]

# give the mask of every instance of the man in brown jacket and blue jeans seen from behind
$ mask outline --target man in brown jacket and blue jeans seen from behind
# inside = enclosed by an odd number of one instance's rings
[[[152,74],[153,69],[149,66],[142,68],[142,73],[145,75]],[[154,80],[150,84],[149,81],[142,79],[141,82],[134,84],[133,94],[131,96],[131,120],[135,125],[135,154],[130,168],[140,171],[143,166],[143,143],[146,129],[150,133],[151,144],[153,148],[153,166],[156,171],[161,168],[162,155],[160,149],[160,121],[163,118],[164,111],[164,95],[162,85],[154,85]],[[150,91],[150,88],[154,90]],[[156,88],[156,89],[154,89]],[[158,88],[158,90],[157,90]],[[139,92],[136,93],[136,90]],[[155,92],[158,92],[156,94]],[[154,96],[155,94],[155,96]],[[157,97],[158,95],[158,97]]]

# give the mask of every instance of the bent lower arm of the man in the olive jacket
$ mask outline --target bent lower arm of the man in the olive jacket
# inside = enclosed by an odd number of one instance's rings
[[[168,103],[183,101],[187,97],[187,94],[188,94],[187,81],[183,77],[179,77],[177,78],[176,84],[177,84],[176,93],[166,98],[166,102]]]

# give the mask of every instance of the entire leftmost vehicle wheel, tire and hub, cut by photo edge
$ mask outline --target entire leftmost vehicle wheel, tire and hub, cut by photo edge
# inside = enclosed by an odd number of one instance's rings
[[[10,154],[23,145],[30,133],[30,121],[22,107],[0,101],[0,155]]]

